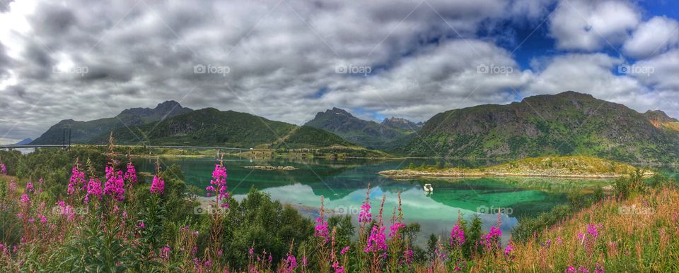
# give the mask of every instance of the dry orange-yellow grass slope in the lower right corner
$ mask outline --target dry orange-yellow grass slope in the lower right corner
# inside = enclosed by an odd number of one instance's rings
[[[679,272],[679,192],[661,188],[625,201],[603,200],[570,219],[516,243],[504,253],[473,262],[472,272]],[[596,226],[598,235],[588,233]],[[579,234],[584,234],[580,237]]]

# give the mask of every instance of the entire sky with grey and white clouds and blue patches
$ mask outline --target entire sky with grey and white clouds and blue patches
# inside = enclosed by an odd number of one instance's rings
[[[679,4],[0,0],[0,139],[173,99],[301,124],[586,92],[679,117]]]

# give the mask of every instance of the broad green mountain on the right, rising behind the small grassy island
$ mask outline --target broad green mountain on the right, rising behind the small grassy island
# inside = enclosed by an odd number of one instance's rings
[[[436,114],[419,137],[411,135],[390,145],[400,154],[443,157],[518,159],[559,154],[675,162],[679,134],[671,127],[675,120],[663,115],[641,114],[569,91]],[[651,121],[658,117],[663,123],[654,125]]]

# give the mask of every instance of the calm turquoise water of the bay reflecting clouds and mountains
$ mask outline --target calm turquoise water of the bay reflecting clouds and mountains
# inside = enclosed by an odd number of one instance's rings
[[[272,199],[298,207],[309,217],[318,215],[320,198],[325,207],[335,214],[358,216],[361,202],[366,198],[370,183],[373,216],[379,210],[385,195],[385,222],[391,217],[401,193],[405,222],[418,222],[422,226],[420,241],[430,233],[448,236],[458,215],[469,219],[478,214],[484,229],[497,222],[501,212],[501,229],[509,236],[518,217],[535,215],[567,202],[565,195],[572,188],[595,188],[610,184],[610,180],[584,180],[559,178],[452,178],[414,179],[396,181],[376,174],[385,169],[398,169],[410,163],[419,166],[433,160],[366,160],[349,159],[247,159],[231,157],[224,159],[228,171],[228,189],[241,200],[250,188],[268,193]],[[153,172],[154,160],[143,159],[139,169]],[[492,162],[451,162],[453,166],[480,166]],[[172,164],[181,166],[186,182],[198,188],[209,185],[214,158],[165,158],[164,168]],[[291,171],[266,171],[246,169],[248,165],[294,166]],[[426,194],[424,183],[431,183],[434,193]]]

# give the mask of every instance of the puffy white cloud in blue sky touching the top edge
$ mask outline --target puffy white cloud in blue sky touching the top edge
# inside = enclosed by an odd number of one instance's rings
[[[562,0],[550,18],[550,35],[558,49],[594,51],[625,40],[639,20],[627,1]]]

